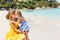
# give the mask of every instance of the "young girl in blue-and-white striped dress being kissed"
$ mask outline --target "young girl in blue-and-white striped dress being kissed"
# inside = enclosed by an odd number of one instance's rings
[[[26,40],[28,40],[29,26],[20,11],[15,11],[15,19],[17,24],[19,25],[18,29],[20,29],[20,31],[22,31],[25,34]]]

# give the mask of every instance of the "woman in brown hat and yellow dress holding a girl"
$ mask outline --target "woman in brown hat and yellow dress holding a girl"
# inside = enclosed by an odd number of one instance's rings
[[[15,23],[15,10],[10,11],[6,18],[9,20],[10,31],[6,35],[6,40],[26,40],[23,32],[18,30],[18,25]]]

